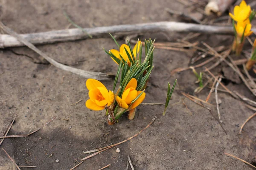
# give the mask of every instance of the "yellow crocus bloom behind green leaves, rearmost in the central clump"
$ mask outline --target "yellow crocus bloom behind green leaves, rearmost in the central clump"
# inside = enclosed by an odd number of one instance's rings
[[[137,57],[136,51],[137,51],[137,53],[139,53],[139,51],[140,51],[140,43],[141,43],[140,41],[137,42],[136,45],[134,46],[133,50],[132,50],[135,59],[136,59],[136,57]],[[137,49],[137,47],[138,47],[138,49]],[[113,53],[114,56],[116,56],[116,58],[118,58],[118,59],[120,59],[120,60],[121,60],[121,57],[120,57],[120,55],[121,55],[122,58],[123,58],[125,61],[127,61],[128,65],[131,65],[131,61],[129,60],[128,55],[127,55],[125,49],[128,51],[128,53],[129,53],[130,56],[131,56],[131,50],[130,50],[129,46],[126,45],[126,44],[122,44],[122,45],[120,46],[119,51],[117,51],[117,50],[115,50],[115,49],[112,49],[112,50],[110,50],[110,52]],[[119,55],[119,54],[120,54],[120,55]],[[111,57],[111,58],[112,58],[112,57]],[[113,59],[113,58],[112,58],[112,59]],[[131,56],[131,59],[132,59],[132,56]],[[114,60],[114,59],[113,59],[113,60]],[[116,62],[116,60],[114,60],[114,62]],[[135,62],[135,61],[134,61],[134,62]],[[118,63],[116,62],[116,64],[118,64]]]

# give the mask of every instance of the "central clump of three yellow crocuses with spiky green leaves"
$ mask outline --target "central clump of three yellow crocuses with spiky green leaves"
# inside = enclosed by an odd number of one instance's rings
[[[115,40],[115,39],[114,39]],[[116,41],[115,41],[116,42]],[[116,42],[117,43],[117,42]],[[119,65],[113,85],[113,91],[108,90],[105,85],[96,79],[87,79],[86,86],[89,97],[85,103],[86,107],[100,111],[106,109],[108,124],[113,125],[123,113],[128,112],[128,119],[134,119],[138,105],[145,99],[145,86],[152,70],[153,41],[145,40],[145,60],[142,60],[142,43],[138,41],[134,48],[122,44],[119,51],[112,49],[106,51],[108,55]],[[122,71],[121,71],[122,70]],[[120,84],[115,92],[117,80],[120,76]]]

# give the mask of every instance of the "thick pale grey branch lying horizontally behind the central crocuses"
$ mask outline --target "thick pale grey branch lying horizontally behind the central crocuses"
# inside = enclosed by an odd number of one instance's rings
[[[142,23],[134,25],[118,25],[118,26],[104,26],[95,28],[84,28],[84,30],[93,36],[93,38],[109,37],[109,33],[118,35],[131,34],[145,34],[146,32],[200,32],[208,34],[224,34],[233,35],[233,28],[227,26],[207,26],[192,23],[178,23],[178,22],[156,22],[156,23]],[[256,32],[256,28],[252,28]],[[20,36],[32,44],[47,44],[54,42],[66,42],[87,39],[88,36],[84,34],[79,28],[55,30],[48,32],[20,34]],[[194,36],[198,36],[194,35]],[[23,46],[16,37],[2,34],[0,35],[0,48]]]

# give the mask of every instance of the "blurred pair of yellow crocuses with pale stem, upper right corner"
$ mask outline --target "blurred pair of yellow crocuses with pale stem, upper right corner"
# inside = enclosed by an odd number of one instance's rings
[[[242,0],[239,6],[235,6],[234,14],[229,13],[229,15],[233,19],[233,28],[235,32],[235,40],[233,42],[232,50],[236,51],[237,55],[240,55],[245,37],[248,37],[253,33],[253,31],[251,31],[252,25],[250,22],[255,16],[255,11],[252,11],[251,7]]]

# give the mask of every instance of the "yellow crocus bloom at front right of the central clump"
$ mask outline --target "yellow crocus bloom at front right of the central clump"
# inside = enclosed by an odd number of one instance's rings
[[[137,80],[132,78],[125,87],[122,98],[116,96],[116,102],[121,108],[128,109],[131,102],[143,91],[137,91]],[[145,99],[145,92],[131,105],[131,109],[136,108]]]

